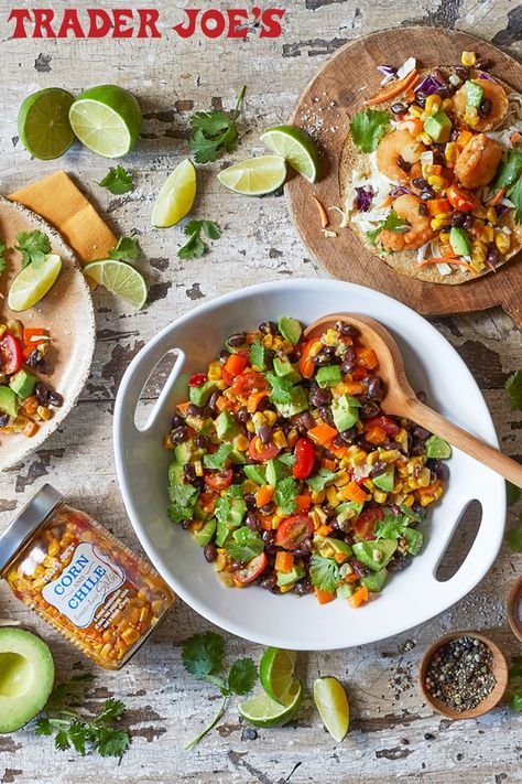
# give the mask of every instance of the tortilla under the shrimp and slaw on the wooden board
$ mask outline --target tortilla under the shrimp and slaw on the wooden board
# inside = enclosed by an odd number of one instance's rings
[[[453,68],[450,69],[448,66],[443,66],[439,69],[446,74],[453,71]],[[423,68],[420,69],[418,74],[421,78],[424,78],[424,76],[426,76],[432,71],[433,68]],[[496,82],[502,85],[502,87],[508,94],[513,92],[513,88],[501,79],[496,79]],[[400,97],[395,97],[392,100],[379,104],[373,108],[385,110],[391,114],[390,108],[392,104],[395,104],[400,100]],[[351,182],[351,173],[355,169],[362,172],[368,172],[368,174],[371,173],[371,169],[369,165],[369,155],[367,153],[360,152],[357,149],[351,139],[350,133],[348,133],[345,146],[342,148],[339,164],[339,186],[344,204],[346,203],[348,192],[347,186]],[[494,271],[500,269],[500,267],[502,267],[509,259],[515,256],[522,248],[522,226],[516,225],[514,223],[512,214],[509,217],[503,218],[503,225],[508,226],[512,230],[511,249],[509,254],[507,254],[502,262],[496,267]],[[372,255],[378,256],[380,259],[382,259],[382,261],[385,261],[385,264],[389,267],[392,267],[396,272],[401,272],[401,275],[406,275],[410,278],[416,278],[417,280],[423,280],[428,283],[445,283],[446,286],[456,286],[457,283],[468,283],[472,280],[477,280],[483,275],[488,275],[489,272],[493,271],[488,267],[487,269],[482,270],[482,272],[471,276],[465,269],[453,267],[454,271],[452,272],[452,275],[441,275],[441,272],[437,270],[436,265],[432,265],[429,267],[418,267],[416,261],[416,250],[401,250],[398,253],[389,253],[383,248],[371,245],[368,241],[368,237],[366,236],[366,234],[361,232],[361,229],[357,226],[357,224],[351,219],[350,216],[348,216],[348,226],[359,237],[361,243]],[[444,258],[441,258],[441,261],[443,262]]]

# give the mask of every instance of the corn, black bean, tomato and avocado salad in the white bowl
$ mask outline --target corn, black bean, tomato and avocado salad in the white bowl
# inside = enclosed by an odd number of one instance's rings
[[[382,414],[378,369],[348,323],[307,341],[282,316],[188,379],[165,437],[168,515],[228,586],[359,606],[418,555],[450,449]]]

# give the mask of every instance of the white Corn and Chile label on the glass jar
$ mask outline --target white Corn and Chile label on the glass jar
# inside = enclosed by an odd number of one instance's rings
[[[124,580],[120,567],[111,563],[97,547],[83,541],[59,577],[45,586],[42,595],[75,626],[86,629],[93,623],[97,609]]]

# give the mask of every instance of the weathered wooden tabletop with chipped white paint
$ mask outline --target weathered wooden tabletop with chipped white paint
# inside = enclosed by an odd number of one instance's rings
[[[172,23],[180,21],[178,9],[184,6],[178,1],[157,3]],[[325,276],[294,234],[284,200],[248,201],[227,194],[211,176],[220,164],[202,172],[197,204],[198,215],[217,219],[225,228],[211,254],[198,261],[180,262],[175,256],[180,229],[149,229],[154,194],[166,172],[187,152],[184,139],[193,107],[205,109],[221,101],[229,107],[240,85],[247,84],[239,152],[247,157],[261,151],[261,129],[289,116],[328,54],[358,35],[406,22],[438,24],[472,32],[511,54],[521,54],[516,43],[521,9],[508,0],[289,0],[286,6],[284,35],[274,41],[260,41],[254,34],[247,42],[225,43],[198,37],[180,42],[172,36],[142,43],[2,40],[2,193],[55,169],[52,162],[31,161],[18,142],[17,110],[28,93],[52,85],[77,92],[91,84],[118,82],[140,97],[146,117],[144,138],[126,162],[137,175],[134,193],[113,197],[102,192],[95,182],[109,164],[86,150],[75,147],[61,163],[117,232],[138,232],[146,258],[143,268],[152,282],[152,302],[138,315],[102,292],[96,293],[98,345],[91,377],[59,432],[32,459],[0,476],[2,528],[44,481],[51,481],[73,503],[138,548],[119,495],[111,450],[115,394],[130,358],[173,316],[207,298],[267,279]],[[2,0],[2,25],[9,7]],[[2,26],[6,39],[3,31]],[[522,366],[520,333],[498,310],[437,319],[435,323],[472,368],[503,449],[520,460],[522,418],[509,411],[503,391],[508,374]],[[152,388],[151,396],[155,394]],[[511,523],[519,511],[510,511]],[[520,556],[503,549],[492,571],[470,595],[422,627],[362,648],[302,655],[300,669],[308,687],[318,674],[335,674],[348,685],[352,729],[340,745],[324,731],[308,696],[297,723],[260,731],[255,740],[246,739],[231,707],[217,731],[192,754],[185,754],[183,743],[209,719],[215,701],[213,689],[186,677],[181,666],[180,644],[208,624],[178,602],[171,620],[120,674],[100,670],[91,688],[90,706],[110,694],[129,706],[127,721],[133,743],[121,763],[54,751],[52,742],[36,738],[30,726],[0,737],[1,781],[371,784],[399,776],[429,784],[522,781],[520,717],[499,708],[478,721],[452,723],[432,713],[415,684],[422,651],[450,629],[487,629],[508,653],[520,653],[504,608],[508,588],[520,570]],[[10,598],[6,586],[0,588],[0,615],[30,622],[45,634],[61,675],[83,665],[57,635]],[[233,637],[228,643],[231,654],[260,656],[258,646]]]

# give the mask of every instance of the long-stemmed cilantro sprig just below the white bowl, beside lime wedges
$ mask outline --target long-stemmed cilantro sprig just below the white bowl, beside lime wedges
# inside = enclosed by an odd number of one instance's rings
[[[219,710],[211,722],[185,747],[185,751],[189,751],[216,727],[232,695],[243,696],[252,690],[258,672],[251,658],[238,658],[228,672],[225,670],[225,640],[216,632],[189,637],[183,646],[182,659],[183,666],[191,675],[208,680],[222,696]]]

